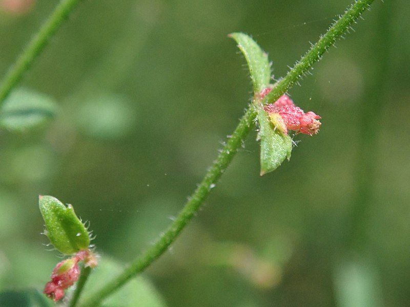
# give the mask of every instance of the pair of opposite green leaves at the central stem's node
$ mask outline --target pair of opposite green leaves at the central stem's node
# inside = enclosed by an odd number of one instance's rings
[[[262,176],[275,170],[285,159],[291,158],[292,139],[272,126],[258,98],[260,91],[269,86],[271,79],[268,55],[248,35],[233,33],[230,36],[237,41],[239,49],[247,59],[253,82],[254,106],[259,123],[260,175]]]

